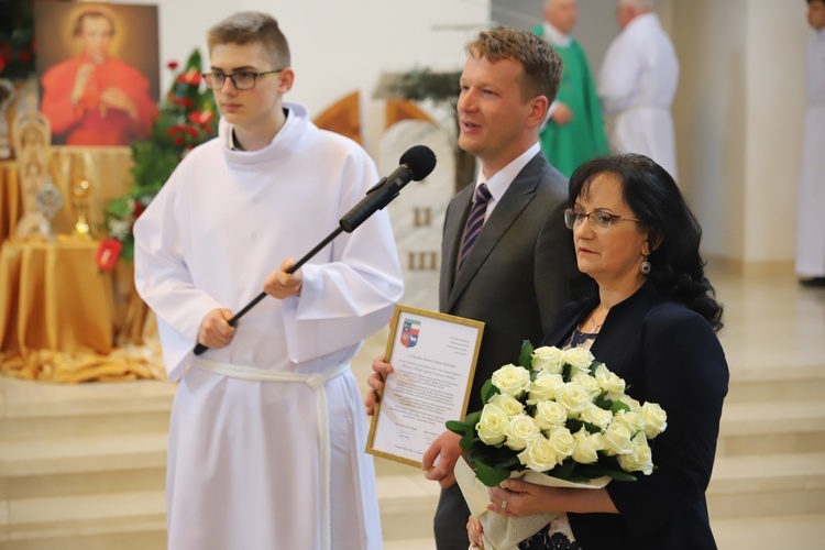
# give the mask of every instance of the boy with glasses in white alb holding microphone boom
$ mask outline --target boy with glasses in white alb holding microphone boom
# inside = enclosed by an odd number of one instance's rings
[[[179,381],[168,548],[380,549],[349,361],[403,293],[387,215],[285,271],[364,197],[375,166],[283,102],[295,74],[273,18],[237,13],[208,43],[219,138],[186,155],[134,229],[135,284]],[[194,355],[196,342],[209,350]]]

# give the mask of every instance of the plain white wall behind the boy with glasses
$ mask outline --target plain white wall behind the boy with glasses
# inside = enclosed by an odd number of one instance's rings
[[[289,41],[296,82],[287,100],[317,116],[354,90],[361,91],[364,133],[371,153],[383,132],[383,103],[371,98],[382,73],[413,67],[457,70],[464,44],[486,25],[486,0],[127,0],[160,7],[161,62],[185,59],[193,47],[206,54],[206,32],[241,10],[273,14]],[[196,7],[197,6],[197,7]],[[169,86],[164,74],[162,87]],[[458,87],[458,82],[457,82]]]

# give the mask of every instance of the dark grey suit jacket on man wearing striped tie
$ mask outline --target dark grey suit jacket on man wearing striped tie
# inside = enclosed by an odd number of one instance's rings
[[[573,235],[564,227],[568,179],[538,153],[505,191],[457,274],[474,186],[450,201],[441,245],[442,312],[485,322],[468,410],[481,410],[481,387],[518,361],[521,341],[539,342],[570,301]],[[436,513],[439,549],[466,549],[470,512],[458,485],[442,492]],[[463,546],[462,546],[463,544]]]

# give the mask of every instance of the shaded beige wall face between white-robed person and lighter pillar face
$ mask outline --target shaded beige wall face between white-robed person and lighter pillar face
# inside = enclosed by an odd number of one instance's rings
[[[675,7],[673,105],[680,185],[704,230],[703,253],[744,260],[747,0]]]

